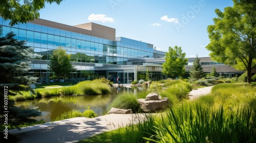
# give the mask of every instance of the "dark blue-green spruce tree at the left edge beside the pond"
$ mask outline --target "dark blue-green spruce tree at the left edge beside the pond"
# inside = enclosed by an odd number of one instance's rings
[[[20,91],[34,93],[30,84],[36,83],[36,78],[25,76],[25,73],[30,70],[27,59],[33,49],[26,46],[25,41],[14,39],[14,36],[15,34],[10,32],[4,37],[0,37],[0,121],[4,123],[4,111],[8,111],[9,126],[34,121],[29,117],[40,115],[40,112],[36,110],[17,108],[14,106],[14,101],[8,100],[9,96],[15,96]]]

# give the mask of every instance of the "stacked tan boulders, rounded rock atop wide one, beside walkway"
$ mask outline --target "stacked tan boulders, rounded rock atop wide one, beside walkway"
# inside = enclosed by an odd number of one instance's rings
[[[137,101],[144,112],[155,112],[157,109],[164,109],[169,106],[169,99],[162,98],[157,93],[150,93],[146,99],[138,99]]]

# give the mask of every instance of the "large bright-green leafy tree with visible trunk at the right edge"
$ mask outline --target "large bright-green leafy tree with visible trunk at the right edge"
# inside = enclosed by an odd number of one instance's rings
[[[207,27],[210,43],[206,49],[210,57],[237,68],[247,70],[247,82],[251,83],[251,69],[256,64],[256,1],[233,0],[233,7],[224,12],[215,10],[214,25]]]

